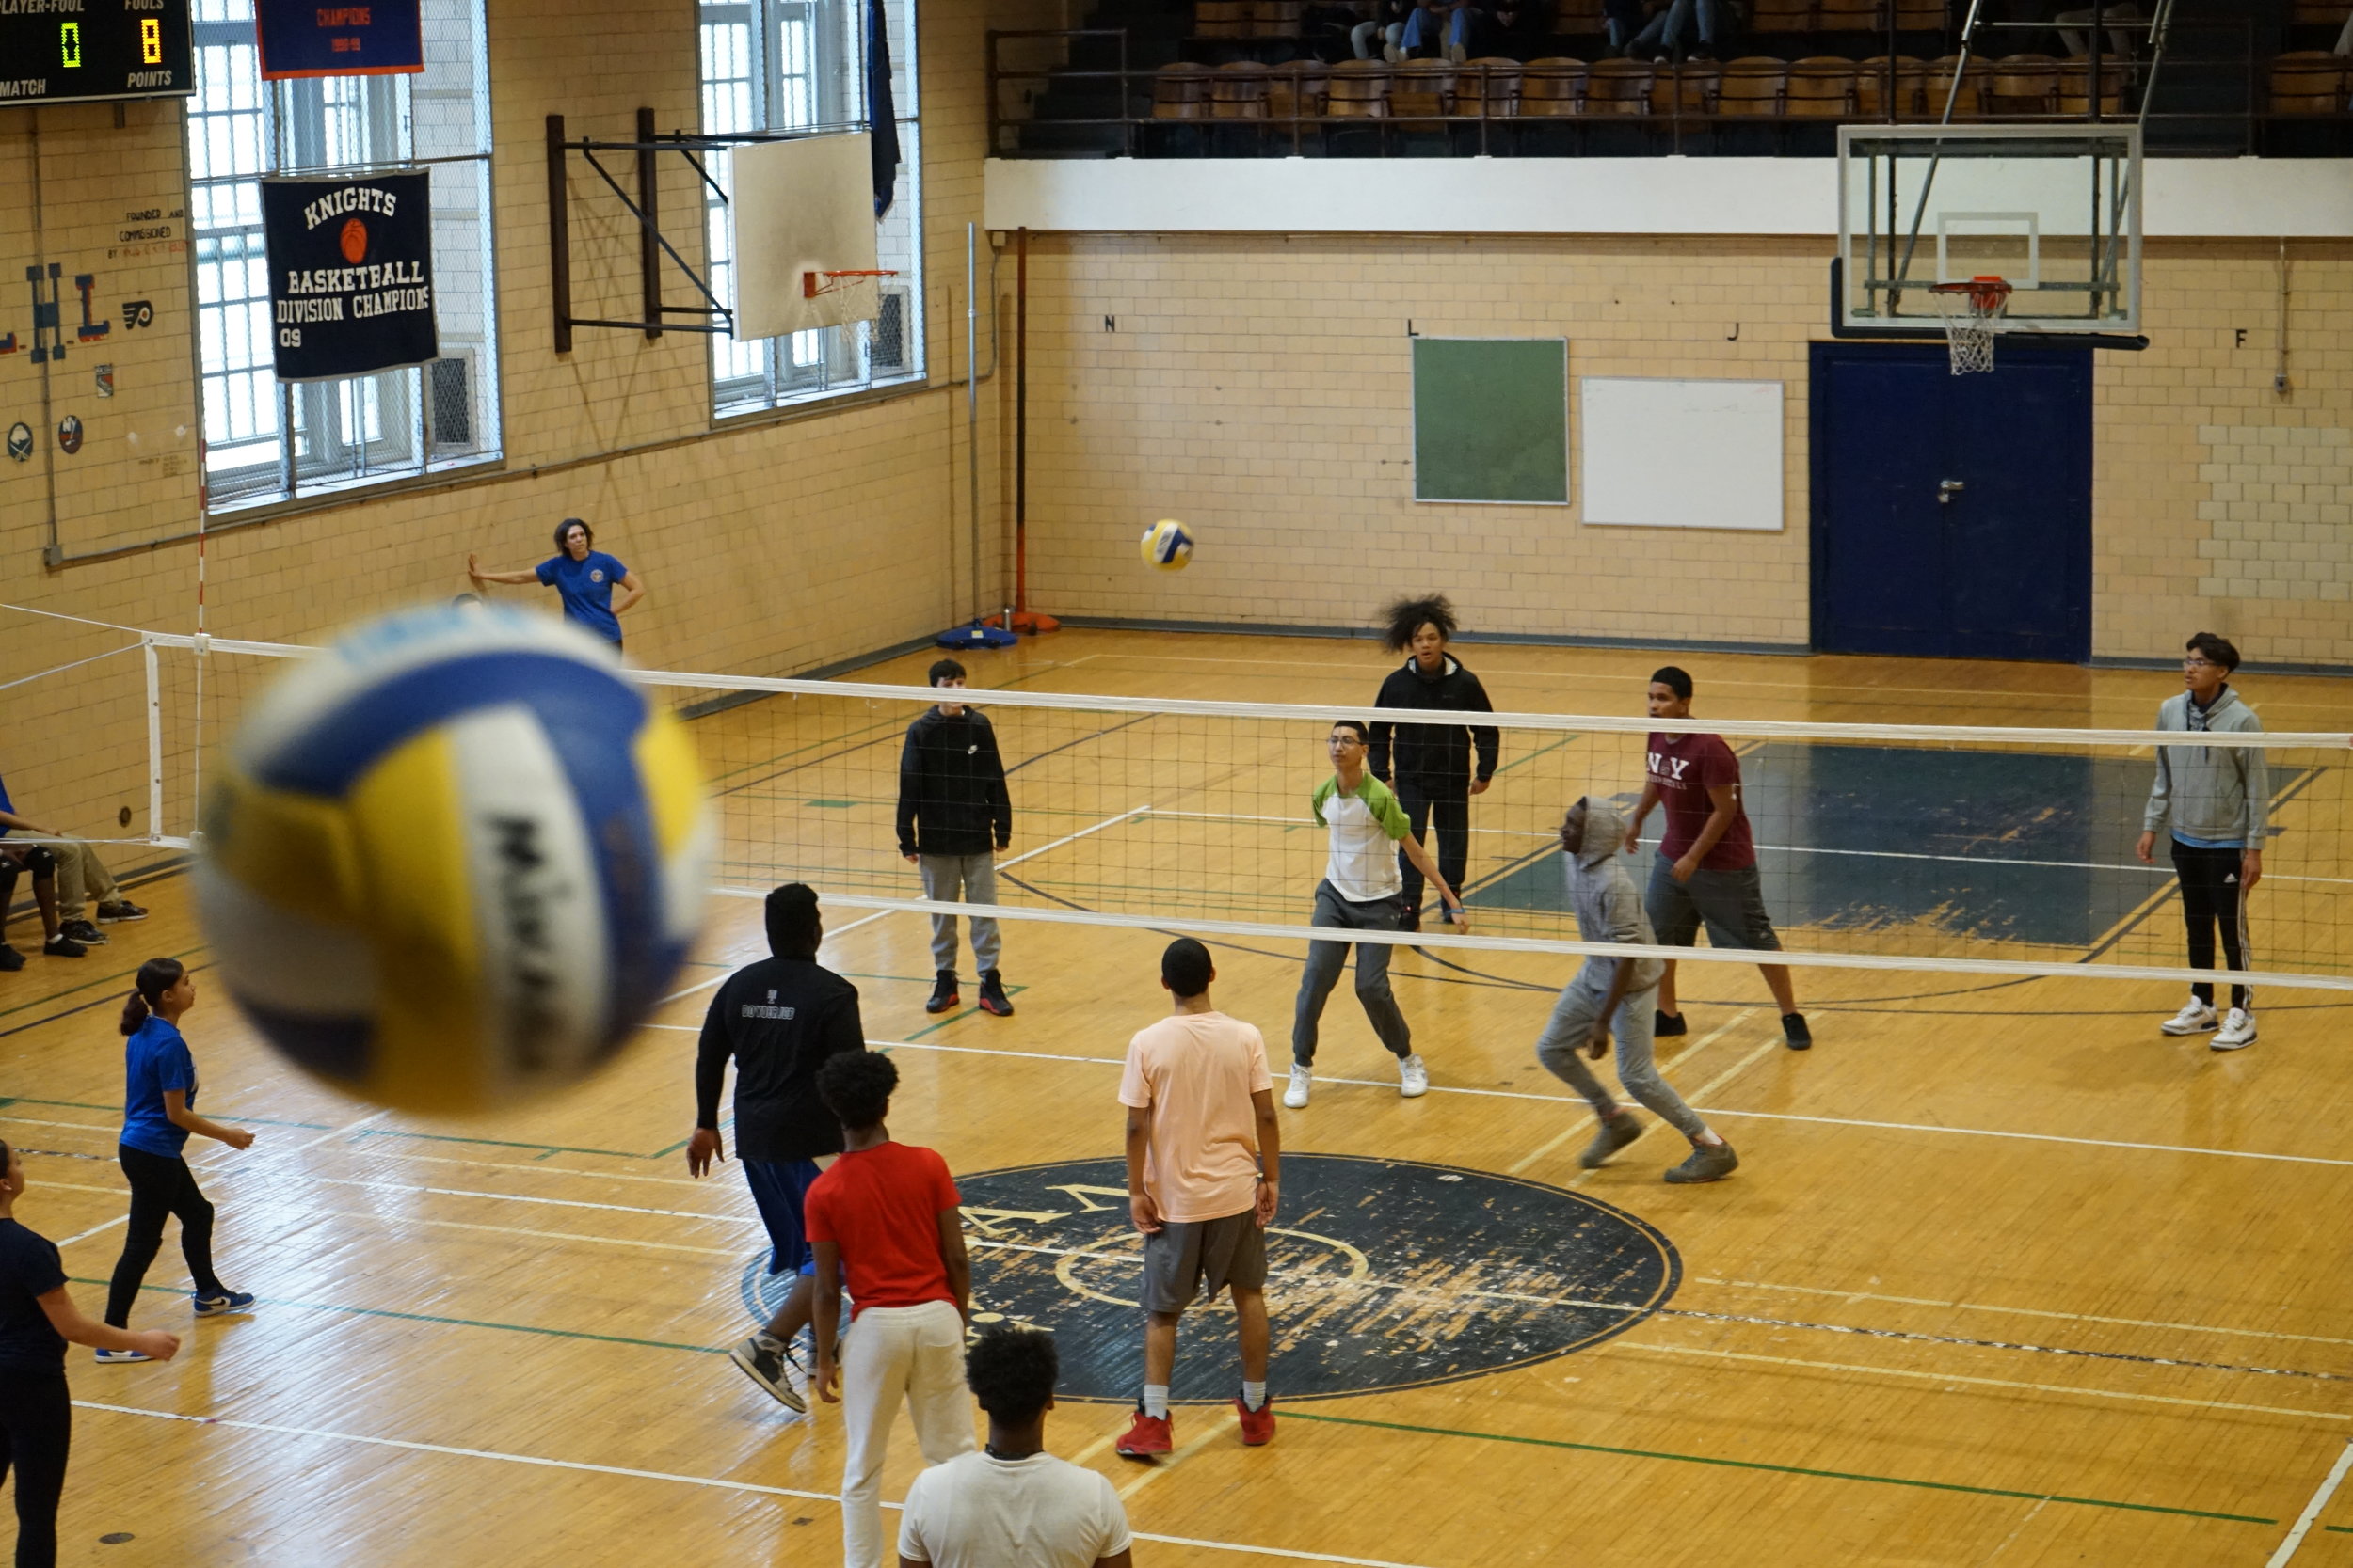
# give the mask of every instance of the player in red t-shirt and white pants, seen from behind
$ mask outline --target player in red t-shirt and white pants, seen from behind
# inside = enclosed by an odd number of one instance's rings
[[[842,1051],[816,1070],[816,1098],[842,1121],[842,1157],[809,1185],[802,1229],[816,1248],[816,1394],[842,1406],[842,1563],[882,1568],[882,1450],[906,1399],[925,1465],[972,1453],[965,1319],[972,1260],[948,1161],[892,1143],[882,1119],[899,1067]],[[835,1366],[842,1274],[856,1335]]]

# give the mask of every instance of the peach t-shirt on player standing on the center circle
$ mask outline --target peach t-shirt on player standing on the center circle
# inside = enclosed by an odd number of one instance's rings
[[[1127,1041],[1120,1105],[1153,1112],[1144,1190],[1176,1225],[1224,1220],[1259,1201],[1259,1114],[1275,1081],[1266,1037],[1224,1013],[1176,1013]]]

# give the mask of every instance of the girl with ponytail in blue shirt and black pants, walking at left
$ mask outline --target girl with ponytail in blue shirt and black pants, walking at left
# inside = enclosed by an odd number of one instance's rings
[[[195,1114],[195,1058],[179,1032],[181,1016],[195,1006],[195,978],[179,959],[148,959],[139,966],[136,987],[122,1004],[125,1091],[122,1091],[122,1175],[132,1185],[132,1220],[122,1232],[122,1258],[106,1291],[106,1321],[125,1328],[146,1265],[162,1246],[162,1222],[179,1215],[179,1251],[195,1279],[195,1316],[245,1312],[254,1298],[231,1291],[212,1272],[212,1201],[195,1190],[195,1173],[181,1150],[188,1133],[219,1138],[233,1150],[247,1150],[254,1135]],[[146,1361],[139,1349],[99,1347],[99,1361]]]

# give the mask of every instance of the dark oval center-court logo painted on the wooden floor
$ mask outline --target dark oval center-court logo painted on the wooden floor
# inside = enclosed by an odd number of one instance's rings
[[[972,1312],[1052,1328],[1064,1399],[1127,1403],[1144,1375],[1144,1239],[1127,1164],[1075,1159],[958,1175]],[[1682,1281],[1673,1244],[1581,1192],[1487,1171],[1353,1154],[1285,1154],[1266,1300],[1280,1399],[1332,1399],[1478,1378],[1626,1333]],[[744,1305],[767,1319],[791,1281],[767,1248]],[[1195,1302],[1174,1399],[1233,1399],[1233,1309]]]

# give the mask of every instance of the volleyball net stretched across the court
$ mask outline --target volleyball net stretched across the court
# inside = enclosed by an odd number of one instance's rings
[[[301,654],[221,639],[198,649],[193,637],[148,632],[136,656],[87,665],[113,682],[104,701],[85,691],[87,722],[141,731],[129,748],[144,773],[132,792],[148,802],[151,842],[188,844],[207,752],[282,661]],[[722,825],[720,891],[762,896],[807,882],[856,910],[974,912],[925,900],[918,867],[901,856],[901,755],[939,691],[694,672],[638,679],[696,738]],[[1261,940],[1313,936],[1327,835],[1311,795],[1332,773],[1332,722],[1414,719],[1028,686],[972,691],[972,701],[995,736],[1012,820],[995,853],[998,905],[986,912]],[[1459,724],[1459,715],[1426,717]],[[1485,722],[1499,755],[1492,785],[1468,802],[1461,893],[1471,933],[1440,926],[1426,896],[1424,931],[1395,940],[1440,957],[1449,947],[1551,954],[1565,973],[1565,957],[1593,947],[1579,940],[1565,896],[1560,818],[1579,797],[1621,811],[1635,802],[1652,722],[1551,712]],[[2177,757],[2235,752],[2264,764],[2268,820],[2240,973],[2353,990],[2353,750],[2344,733],[1734,719],[1706,729],[1739,757],[1765,905],[1791,964],[2198,978],[2184,964],[2169,832],[2158,832],[2153,860],[2139,856],[2162,743],[2186,748]],[[1654,811],[1628,858],[1638,889],[1652,877],[1661,827]],[[1433,856],[1445,849],[1438,832],[1424,842]],[[1678,957],[1758,961],[1751,950],[1706,945]]]

